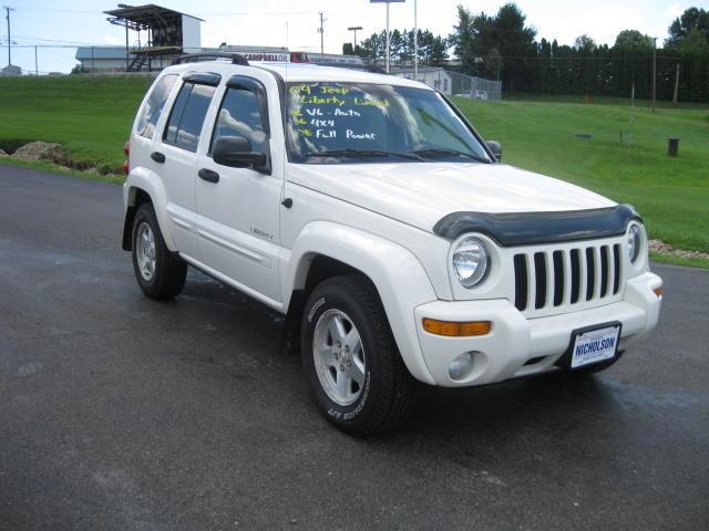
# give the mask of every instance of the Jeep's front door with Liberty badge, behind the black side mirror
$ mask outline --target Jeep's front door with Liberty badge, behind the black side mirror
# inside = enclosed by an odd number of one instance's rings
[[[197,178],[196,230],[207,266],[244,291],[278,305],[282,134],[271,138],[271,124],[280,113],[278,107],[269,110],[265,83],[275,81],[266,76],[270,74],[235,75],[220,95],[209,144],[198,157],[198,173],[207,178]],[[212,147],[222,136],[246,137],[251,150],[266,154],[268,168],[257,171],[216,164]]]

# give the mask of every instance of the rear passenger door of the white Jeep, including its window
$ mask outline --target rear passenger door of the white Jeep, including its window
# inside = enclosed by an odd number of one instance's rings
[[[155,171],[167,194],[167,216],[177,249],[187,256],[198,252],[194,233],[196,217],[196,152],[205,116],[219,83],[218,74],[195,73],[183,77],[169,117],[151,153]]]

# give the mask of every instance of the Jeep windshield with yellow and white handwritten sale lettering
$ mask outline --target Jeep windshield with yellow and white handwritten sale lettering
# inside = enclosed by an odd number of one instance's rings
[[[295,163],[490,162],[434,91],[332,82],[287,88],[288,149]]]

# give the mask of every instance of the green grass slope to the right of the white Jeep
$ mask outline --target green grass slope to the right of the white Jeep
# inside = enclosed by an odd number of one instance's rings
[[[565,100],[455,103],[485,138],[502,143],[505,162],[631,202],[653,238],[709,251],[709,107],[651,113],[644,103],[630,129],[623,100]],[[678,158],[667,156],[669,137],[680,138]]]

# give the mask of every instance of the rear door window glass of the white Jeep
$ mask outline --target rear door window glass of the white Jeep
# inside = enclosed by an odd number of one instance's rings
[[[163,140],[188,152],[196,152],[204,118],[216,87],[185,83],[169,113]]]

